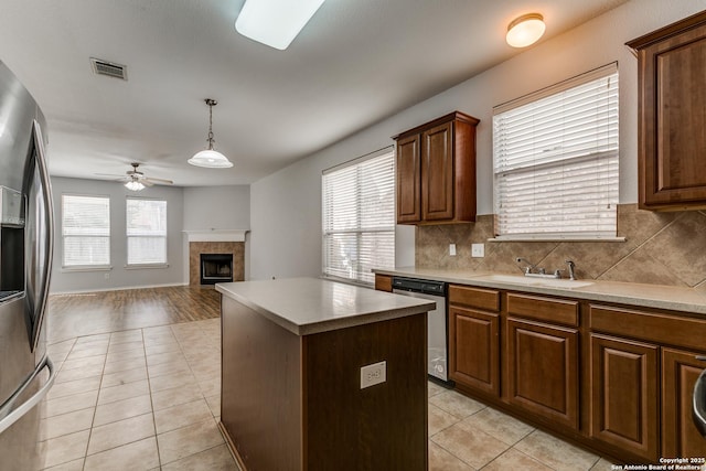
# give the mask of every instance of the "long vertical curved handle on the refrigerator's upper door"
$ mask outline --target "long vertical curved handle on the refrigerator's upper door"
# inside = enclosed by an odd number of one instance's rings
[[[46,301],[49,300],[49,285],[52,275],[52,261],[54,251],[54,205],[52,202],[52,186],[49,179],[49,170],[46,169],[46,158],[44,157],[44,140],[42,129],[36,119],[33,122],[34,147],[36,149],[36,170],[41,180],[42,201],[44,203],[44,227],[46,237],[44,238],[44,266],[42,276],[38,283],[38,298],[33,319],[32,338],[30,339],[32,351],[36,349],[40,331],[44,322],[44,311],[46,310]]]

